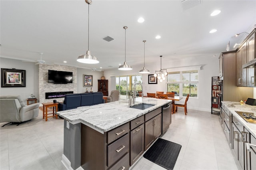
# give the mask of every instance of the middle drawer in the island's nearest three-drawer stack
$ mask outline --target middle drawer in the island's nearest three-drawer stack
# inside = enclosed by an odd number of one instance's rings
[[[124,135],[108,146],[108,166],[114,164],[130,150],[130,134]]]

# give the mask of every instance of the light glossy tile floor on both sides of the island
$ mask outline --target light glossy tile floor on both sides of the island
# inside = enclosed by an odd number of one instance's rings
[[[161,136],[182,145],[174,170],[240,170],[228,146],[217,115],[183,109],[172,115],[169,130]],[[0,123],[0,126],[5,123]],[[0,170],[66,170],[63,153],[63,120],[42,119],[0,128]],[[140,158],[132,170],[165,170]]]

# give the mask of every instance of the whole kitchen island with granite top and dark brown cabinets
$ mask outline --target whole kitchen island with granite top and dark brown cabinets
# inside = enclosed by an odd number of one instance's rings
[[[67,169],[129,168],[162,134],[162,106],[170,102],[138,97],[134,105],[152,106],[134,109],[124,100],[57,112],[64,118],[62,163]],[[167,119],[170,125],[171,114]]]

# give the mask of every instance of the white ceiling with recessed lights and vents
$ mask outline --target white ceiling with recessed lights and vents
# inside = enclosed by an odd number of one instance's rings
[[[216,57],[230,50],[256,24],[256,0],[201,0],[184,10],[181,0],[93,0],[90,5],[90,51],[98,64],[76,61],[88,49],[88,4],[84,0],[1,0],[1,57],[45,61],[76,67],[118,68],[126,61],[148,63],[186,57]],[[217,16],[210,16],[214,10]],[[137,19],[143,17],[144,23]],[[212,29],[218,30],[210,34]],[[155,39],[156,35],[160,39]],[[102,40],[110,36],[115,40]],[[109,67],[112,66],[112,67]]]

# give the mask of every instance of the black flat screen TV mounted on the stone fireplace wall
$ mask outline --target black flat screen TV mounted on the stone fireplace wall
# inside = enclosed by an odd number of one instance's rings
[[[68,71],[48,70],[48,83],[73,83],[73,73]]]

